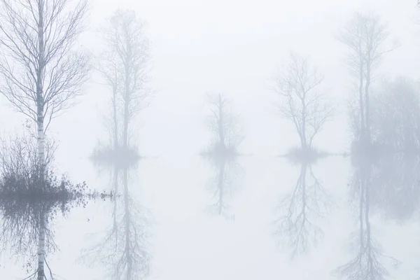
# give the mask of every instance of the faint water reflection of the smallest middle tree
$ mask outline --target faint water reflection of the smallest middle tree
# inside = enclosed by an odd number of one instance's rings
[[[235,179],[241,172],[241,166],[236,156],[209,155],[207,160],[211,162],[214,172],[207,186],[209,192],[213,194],[211,197],[213,203],[207,207],[207,212],[232,220],[235,215],[229,214],[229,200],[237,190]]]

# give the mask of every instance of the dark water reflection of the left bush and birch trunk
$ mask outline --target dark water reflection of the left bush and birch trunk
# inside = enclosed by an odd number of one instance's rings
[[[85,204],[78,197],[4,197],[0,198],[2,251],[10,251],[25,264],[25,279],[54,279],[47,255],[57,249],[52,221],[58,212],[66,214],[71,207]],[[46,267],[45,267],[46,266]]]

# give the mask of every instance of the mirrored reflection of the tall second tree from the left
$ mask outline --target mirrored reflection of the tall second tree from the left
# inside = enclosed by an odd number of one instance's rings
[[[83,258],[101,262],[109,269],[109,279],[144,279],[148,276],[151,255],[147,251],[147,211],[137,204],[129,187],[130,169],[113,165],[110,170],[113,192],[112,224],[101,241]]]

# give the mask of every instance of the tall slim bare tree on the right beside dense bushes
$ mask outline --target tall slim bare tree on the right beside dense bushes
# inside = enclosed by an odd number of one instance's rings
[[[370,85],[382,55],[392,50],[384,48],[387,38],[386,26],[378,15],[370,12],[355,13],[337,36],[349,49],[347,64],[358,80],[359,139],[367,143],[371,141]]]

